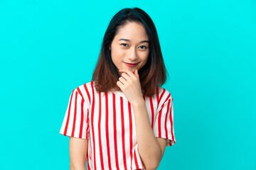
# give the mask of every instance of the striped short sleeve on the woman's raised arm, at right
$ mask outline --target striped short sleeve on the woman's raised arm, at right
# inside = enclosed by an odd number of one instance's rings
[[[154,121],[154,135],[167,139],[166,147],[175,144],[174,136],[174,99],[171,97],[169,91],[162,91],[161,101],[156,111],[156,118]]]

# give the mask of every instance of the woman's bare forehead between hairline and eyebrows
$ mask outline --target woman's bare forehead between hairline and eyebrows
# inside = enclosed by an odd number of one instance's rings
[[[117,30],[115,38],[126,38],[131,40],[148,40],[146,30],[142,23],[127,22]]]

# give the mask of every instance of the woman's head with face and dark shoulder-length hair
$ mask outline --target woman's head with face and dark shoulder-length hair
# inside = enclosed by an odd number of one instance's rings
[[[137,63],[129,67],[125,63]],[[140,8],[124,8],[114,15],[105,32],[100,57],[93,73],[97,91],[120,90],[118,69],[139,70],[145,96],[166,81],[166,69],[153,21]]]

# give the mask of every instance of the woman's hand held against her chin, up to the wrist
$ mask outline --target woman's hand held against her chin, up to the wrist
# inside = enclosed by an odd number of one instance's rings
[[[138,69],[136,69],[134,73],[129,69],[119,69],[119,72],[123,73],[121,77],[119,77],[119,81],[117,81],[117,86],[119,86],[127,97],[129,103],[133,106],[134,104],[144,101]]]

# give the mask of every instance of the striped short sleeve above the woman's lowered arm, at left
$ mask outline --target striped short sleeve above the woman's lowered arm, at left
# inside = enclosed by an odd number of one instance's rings
[[[78,89],[73,89],[70,95],[68,108],[60,128],[60,134],[68,137],[88,139],[89,135],[89,108]]]

